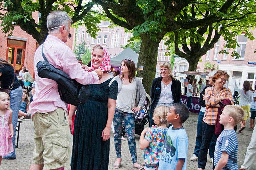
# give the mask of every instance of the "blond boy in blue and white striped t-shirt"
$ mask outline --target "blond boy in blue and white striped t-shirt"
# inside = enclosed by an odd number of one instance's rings
[[[214,170],[237,170],[238,142],[234,126],[244,119],[244,110],[241,107],[227,105],[219,118],[219,123],[224,125],[224,130],[219,135],[214,152]]]

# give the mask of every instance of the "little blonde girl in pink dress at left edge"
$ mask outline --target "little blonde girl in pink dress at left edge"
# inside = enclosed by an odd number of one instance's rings
[[[0,165],[2,156],[13,152],[12,137],[12,110],[10,106],[10,96],[0,92]]]

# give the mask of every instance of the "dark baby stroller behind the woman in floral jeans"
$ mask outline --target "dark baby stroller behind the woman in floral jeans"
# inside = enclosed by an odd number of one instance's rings
[[[144,108],[141,109],[141,111],[135,112],[135,134],[141,134],[141,132],[144,129],[144,126],[149,122],[149,107],[151,104],[151,99],[149,94],[146,93],[146,100],[144,104]],[[122,131],[123,134],[122,136],[124,137],[125,135],[125,126],[124,124],[122,125]]]

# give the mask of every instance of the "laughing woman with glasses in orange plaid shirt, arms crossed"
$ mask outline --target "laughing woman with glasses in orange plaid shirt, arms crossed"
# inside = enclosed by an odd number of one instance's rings
[[[228,81],[229,75],[225,71],[218,70],[212,77],[212,82],[215,83],[212,87],[205,89],[205,113],[202,125],[202,144],[198,154],[198,170],[205,168],[207,161],[207,151],[212,137],[215,134],[215,125],[217,120],[219,102],[229,99],[233,104],[233,96],[229,88],[224,85]],[[219,134],[215,135],[215,141]]]

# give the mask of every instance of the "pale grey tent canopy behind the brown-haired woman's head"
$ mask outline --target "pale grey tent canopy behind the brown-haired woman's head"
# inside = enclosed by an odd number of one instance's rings
[[[132,59],[132,61],[134,61],[135,63],[135,67],[137,67],[139,56],[130,47],[127,47],[124,51],[122,51],[115,57],[112,57],[110,59],[111,66],[120,66],[121,61],[127,58]]]

